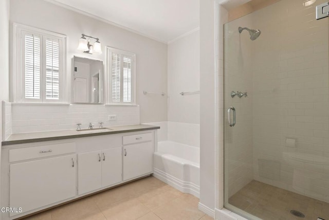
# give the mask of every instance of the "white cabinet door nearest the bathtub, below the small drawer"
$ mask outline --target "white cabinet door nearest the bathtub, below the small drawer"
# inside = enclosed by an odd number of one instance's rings
[[[123,146],[123,180],[151,173],[153,142]]]

